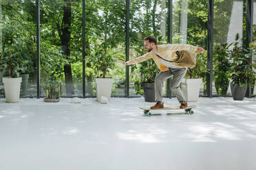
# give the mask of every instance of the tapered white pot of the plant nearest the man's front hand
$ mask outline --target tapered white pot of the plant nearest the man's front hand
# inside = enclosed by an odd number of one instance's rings
[[[112,78],[96,78],[97,100],[100,103],[107,103],[111,96]],[[108,101],[107,101],[108,100]]]

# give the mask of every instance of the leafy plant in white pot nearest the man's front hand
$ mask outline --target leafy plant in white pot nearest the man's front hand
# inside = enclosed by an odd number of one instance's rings
[[[106,77],[109,69],[114,69],[114,60],[104,42],[94,46],[92,57],[88,61],[94,65],[96,77],[96,96],[100,103],[107,103],[111,97],[113,78]]]

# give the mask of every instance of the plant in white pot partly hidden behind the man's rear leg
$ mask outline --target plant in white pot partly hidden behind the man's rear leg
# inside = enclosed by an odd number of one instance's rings
[[[181,82],[182,93],[187,101],[198,101],[202,78],[206,73],[206,55],[207,52],[198,53],[196,64],[193,69],[188,69],[184,79]]]

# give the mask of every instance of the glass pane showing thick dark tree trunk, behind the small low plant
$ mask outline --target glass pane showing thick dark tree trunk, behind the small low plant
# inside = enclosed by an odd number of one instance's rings
[[[61,81],[62,96],[82,96],[82,0],[41,1],[41,83]],[[45,90],[41,88],[41,94]]]

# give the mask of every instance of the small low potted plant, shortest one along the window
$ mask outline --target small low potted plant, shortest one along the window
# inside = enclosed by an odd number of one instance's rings
[[[58,102],[61,95],[61,81],[56,78],[47,79],[41,84],[41,87],[45,90],[45,102]]]

